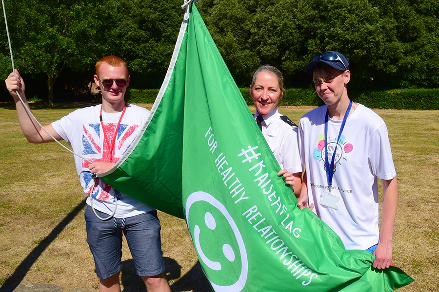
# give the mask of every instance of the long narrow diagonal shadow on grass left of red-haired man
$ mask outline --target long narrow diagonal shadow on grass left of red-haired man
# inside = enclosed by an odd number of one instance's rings
[[[85,207],[86,198],[80,202],[78,206],[75,207],[62,221],[52,230],[52,232],[45,237],[39,245],[37,245],[33,251],[26,256],[25,259],[20,263],[20,265],[15,269],[14,274],[12,274],[6,282],[0,287],[0,292],[12,292],[23,280],[27,272],[29,272],[32,265],[44,252],[44,250],[51,244],[55,238],[61,233],[61,231],[67,226],[67,224],[72,221],[76,215]]]

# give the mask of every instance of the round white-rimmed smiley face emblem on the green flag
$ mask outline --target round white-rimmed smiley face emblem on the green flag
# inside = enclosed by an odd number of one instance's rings
[[[186,201],[186,221],[214,290],[241,291],[247,281],[248,258],[238,227],[224,205],[206,192],[192,193]]]

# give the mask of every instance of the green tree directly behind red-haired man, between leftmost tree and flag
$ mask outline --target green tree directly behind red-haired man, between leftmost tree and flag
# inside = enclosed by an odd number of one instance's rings
[[[181,0],[114,0],[107,54],[119,55],[136,74],[137,88],[159,87],[180,30]]]

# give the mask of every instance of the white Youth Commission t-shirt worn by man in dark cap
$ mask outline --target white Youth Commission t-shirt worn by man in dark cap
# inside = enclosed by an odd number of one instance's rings
[[[345,248],[365,250],[378,243],[378,180],[396,176],[384,121],[374,111],[358,105],[346,120],[337,143],[342,120],[328,121],[328,161],[337,145],[331,195],[338,209],[320,204],[328,192],[325,170],[325,115],[327,106],[300,119],[299,151],[307,175],[309,203],[314,212],[334,230]]]

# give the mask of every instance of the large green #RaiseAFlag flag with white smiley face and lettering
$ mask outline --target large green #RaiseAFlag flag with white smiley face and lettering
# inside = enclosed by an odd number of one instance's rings
[[[142,133],[103,181],[186,219],[217,292],[387,292],[412,282],[300,210],[195,5]]]

